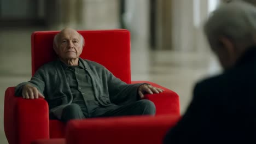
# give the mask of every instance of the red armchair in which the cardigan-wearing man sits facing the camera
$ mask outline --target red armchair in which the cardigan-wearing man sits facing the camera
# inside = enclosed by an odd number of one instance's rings
[[[32,75],[44,63],[56,58],[53,50],[54,35],[59,31],[34,32],[32,44]],[[108,70],[126,83],[131,81],[130,32],[126,29],[78,31],[85,39],[80,57],[104,65]],[[156,106],[156,116],[162,114],[180,115],[179,97],[170,89],[161,94],[146,95]],[[44,99],[22,99],[15,97],[14,87],[5,91],[4,131],[9,143],[30,143],[36,139],[61,138],[65,136],[65,124],[49,120],[48,103]]]

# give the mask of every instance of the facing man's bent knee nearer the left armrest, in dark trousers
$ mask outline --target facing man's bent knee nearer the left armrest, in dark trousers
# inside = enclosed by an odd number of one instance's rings
[[[83,112],[78,104],[70,104],[63,108],[61,119],[67,122],[71,119],[85,118]]]

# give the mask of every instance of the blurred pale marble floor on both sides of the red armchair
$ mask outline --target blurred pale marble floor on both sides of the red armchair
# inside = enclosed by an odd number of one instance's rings
[[[0,143],[8,143],[3,129],[4,92],[7,87],[30,80],[33,31],[45,28],[0,29]],[[184,113],[194,83],[220,71],[211,53],[150,51],[147,43],[132,40],[132,80],[147,80],[177,92]]]

